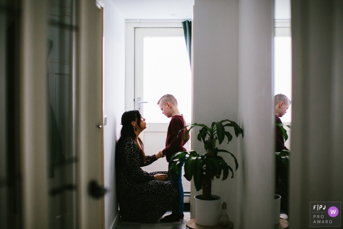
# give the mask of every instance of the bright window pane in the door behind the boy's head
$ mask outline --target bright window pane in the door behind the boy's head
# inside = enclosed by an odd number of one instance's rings
[[[184,37],[144,37],[143,116],[148,123],[169,123],[157,101],[175,96],[186,123],[191,122],[192,78]]]

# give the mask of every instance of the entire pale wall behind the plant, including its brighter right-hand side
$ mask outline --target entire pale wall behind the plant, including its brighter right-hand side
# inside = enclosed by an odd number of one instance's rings
[[[235,228],[272,227],[273,11],[272,0],[195,0],[193,122],[230,119],[245,130],[219,147],[238,159],[234,178],[212,183]]]

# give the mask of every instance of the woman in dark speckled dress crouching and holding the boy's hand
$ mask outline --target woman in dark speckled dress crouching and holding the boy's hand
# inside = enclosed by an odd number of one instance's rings
[[[116,147],[117,193],[124,221],[150,223],[161,218],[176,198],[167,172],[141,169],[161,158],[146,156],[139,134],[147,127],[138,110],[123,113],[121,136]]]

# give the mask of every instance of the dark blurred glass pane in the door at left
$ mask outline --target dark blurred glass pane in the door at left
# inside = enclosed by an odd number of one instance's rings
[[[76,228],[75,1],[49,0],[49,228]]]

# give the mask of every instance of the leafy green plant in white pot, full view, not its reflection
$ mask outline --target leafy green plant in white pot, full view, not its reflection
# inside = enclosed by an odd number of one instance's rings
[[[177,171],[177,167],[184,163],[184,177],[189,181],[194,178],[196,191],[202,189],[202,195],[195,196],[196,224],[201,226],[215,226],[218,225],[218,218],[221,213],[221,201],[220,197],[211,194],[212,180],[214,177],[220,178],[221,173],[223,174],[222,180],[225,180],[230,172],[232,174],[231,178],[233,178],[234,175],[231,166],[229,166],[218,153],[229,153],[235,161],[235,170],[238,169],[236,157],[226,150],[218,149],[217,142],[221,144],[225,137],[227,138],[227,144],[232,140],[231,133],[226,131],[225,127],[233,127],[236,137],[240,134],[242,134],[242,136],[244,135],[243,129],[239,127],[237,123],[228,119],[220,122],[213,122],[211,127],[197,123],[187,127],[189,127],[189,129],[186,131],[185,139],[188,138],[189,132],[193,127],[201,127],[197,135],[197,140],[204,143],[205,153],[202,155],[196,151],[175,153],[172,155],[169,169],[175,169]],[[187,127],[184,127],[180,131]],[[198,207],[198,202],[201,202],[206,206],[203,214],[201,213],[201,207]],[[210,205],[213,205],[217,209],[209,209]]]

